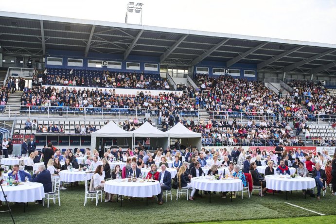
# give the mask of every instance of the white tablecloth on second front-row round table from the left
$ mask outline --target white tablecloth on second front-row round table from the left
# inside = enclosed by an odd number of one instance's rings
[[[122,181],[125,180],[125,181]],[[127,182],[127,179],[109,180],[105,182],[104,190],[108,193],[130,197],[152,197],[161,191],[159,181],[155,182]]]

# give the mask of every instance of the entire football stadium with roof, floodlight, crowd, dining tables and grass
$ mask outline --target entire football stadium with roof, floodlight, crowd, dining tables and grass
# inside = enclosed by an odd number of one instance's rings
[[[335,223],[336,44],[144,7],[0,11],[1,224]]]

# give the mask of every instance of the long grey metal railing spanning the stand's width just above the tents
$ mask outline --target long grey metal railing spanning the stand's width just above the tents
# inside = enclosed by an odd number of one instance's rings
[[[207,116],[204,116],[207,113]],[[214,120],[236,120],[248,121],[249,119],[253,121],[293,121],[294,119],[303,120],[303,117],[296,117],[294,113],[283,116],[282,113],[261,113],[261,112],[244,112],[244,111],[203,111],[203,116],[200,115],[198,110],[178,110],[175,112],[174,116],[179,115],[181,119],[190,118],[195,121],[200,121],[203,117],[204,119],[214,119]],[[63,118],[94,118],[94,119],[106,119],[115,118],[121,119],[122,117],[153,117],[158,118],[157,109],[148,108],[103,108],[103,107],[67,107],[67,106],[13,106],[13,105],[0,105],[0,117],[1,118],[11,118],[11,117],[24,117],[24,118],[53,118],[59,115]],[[336,115],[314,115],[307,114],[306,121],[311,122],[329,122],[333,123],[336,121]]]

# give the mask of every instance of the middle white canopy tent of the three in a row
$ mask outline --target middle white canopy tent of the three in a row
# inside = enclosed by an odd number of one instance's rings
[[[150,138],[150,147],[153,147],[153,149],[156,147],[165,149],[168,146],[167,132],[162,132],[153,127],[148,121],[131,133],[133,134],[133,142],[135,142],[135,138]]]

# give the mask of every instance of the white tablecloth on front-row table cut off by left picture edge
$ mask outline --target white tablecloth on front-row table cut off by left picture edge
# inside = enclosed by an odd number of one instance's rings
[[[3,186],[3,191],[7,194],[7,201],[9,202],[34,202],[44,198],[43,184],[24,182],[23,185],[18,186]],[[0,201],[5,201],[3,194],[0,194]]]

